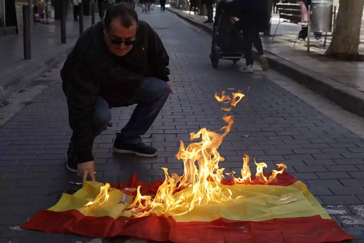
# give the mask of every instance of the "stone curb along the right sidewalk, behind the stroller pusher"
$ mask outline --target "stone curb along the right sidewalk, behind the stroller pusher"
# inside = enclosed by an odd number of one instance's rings
[[[179,12],[173,11],[171,8],[166,8],[168,11],[174,13],[178,17],[188,21],[212,35],[213,30],[205,24],[198,23],[190,17],[181,15]],[[253,50],[254,58],[259,60],[259,54]],[[317,94],[323,95],[325,98],[335,101],[338,105],[342,106],[345,110],[364,116],[364,94],[363,92],[348,87],[334,79],[325,77],[317,72],[309,70],[308,68],[301,67],[300,65],[290,62],[272,52],[264,50],[268,57],[269,66],[274,70],[284,74],[285,76],[293,79],[294,81],[305,85],[310,90]]]

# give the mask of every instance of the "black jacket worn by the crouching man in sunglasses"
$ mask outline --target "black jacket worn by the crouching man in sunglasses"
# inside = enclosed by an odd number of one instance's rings
[[[128,106],[134,103],[135,93],[146,77],[169,81],[169,56],[158,34],[149,24],[139,21],[135,40],[125,56],[111,54],[100,21],[80,36],[64,63],[62,87],[79,163],[94,160],[92,116],[99,96],[110,107]]]

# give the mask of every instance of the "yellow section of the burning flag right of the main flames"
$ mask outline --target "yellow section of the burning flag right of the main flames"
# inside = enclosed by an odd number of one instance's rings
[[[195,205],[192,211],[174,216],[175,221],[210,222],[220,217],[239,221],[263,221],[315,215],[320,215],[323,219],[331,219],[301,181],[286,187],[224,185],[223,192],[227,192],[226,188],[232,191],[233,200],[223,204]]]

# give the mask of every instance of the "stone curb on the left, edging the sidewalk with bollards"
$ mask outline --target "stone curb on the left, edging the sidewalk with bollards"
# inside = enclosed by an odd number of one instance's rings
[[[48,53],[37,60],[26,61],[28,63],[25,63],[21,68],[16,68],[1,77],[0,100],[7,99],[13,92],[20,90],[33,81],[33,79],[48,72],[51,68],[65,60],[73,47],[73,43],[67,43],[66,47],[60,46],[59,49],[61,50]],[[32,64],[31,62],[36,62],[37,64]]]

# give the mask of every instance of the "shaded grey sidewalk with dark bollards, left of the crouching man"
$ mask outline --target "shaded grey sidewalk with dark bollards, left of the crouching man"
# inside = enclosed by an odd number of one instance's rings
[[[83,24],[84,30],[91,26],[91,16],[84,16]],[[0,100],[66,58],[79,37],[79,22],[71,16],[66,22],[66,36],[67,43],[61,44],[60,21],[36,23],[31,31],[31,60],[23,59],[23,34],[0,37]]]

